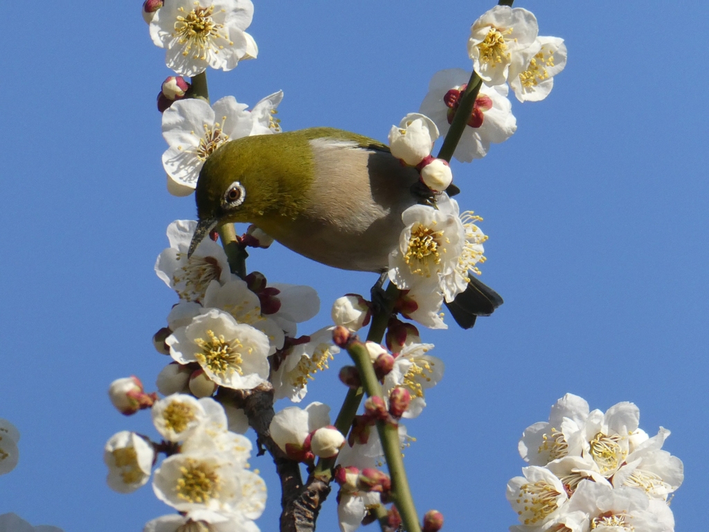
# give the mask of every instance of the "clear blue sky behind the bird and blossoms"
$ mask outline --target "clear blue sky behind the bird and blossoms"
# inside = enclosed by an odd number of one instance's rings
[[[540,4],[537,6],[537,4]],[[540,34],[566,40],[569,63],[549,98],[519,104],[518,131],[488,157],[454,165],[463,209],[484,216],[483,281],[506,304],[472,331],[423,331],[445,360],[428,408],[408,423],[406,452],[421,514],[447,529],[515,523],[506,482],[523,465],[523,429],[566,392],[591,408],[640,406],[641,427],[671,429],[666,449],[686,480],[678,530],[705,526],[709,439],[707,238],[709,6],[674,2],[515,2]],[[167,194],[155,96],[169,75],[140,1],[0,0],[0,417],[22,433],[16,470],[0,477],[0,513],[68,531],[138,531],[170,509],[146,486],[111,492],[101,454],[149,414],[126,419],[108,384],[135,373],[151,387],[168,362],[152,348],[177,297],[155,277],[164,232],[194,216]],[[255,0],[259,59],[209,72],[214,99],[255,104],[284,89],[286,130],[335,126],[386,140],[417,111],[437,70],[470,67],[470,24],[491,1]],[[374,275],[341,272],[274,245],[250,270],[310,284],[331,302],[367,293]],[[337,367],[309,401],[337,411]],[[279,407],[287,406],[286,403]],[[258,521],[274,531],[279,488]],[[335,530],[335,497],[321,530]]]

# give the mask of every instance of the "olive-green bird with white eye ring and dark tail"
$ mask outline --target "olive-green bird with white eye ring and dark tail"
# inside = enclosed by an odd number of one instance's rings
[[[317,262],[381,274],[404,228],[401,214],[422,199],[418,182],[418,171],[388,146],[348,131],[311,128],[230,140],[199,174],[190,253],[223,223],[252,223]],[[470,328],[502,302],[472,279],[447,306]]]

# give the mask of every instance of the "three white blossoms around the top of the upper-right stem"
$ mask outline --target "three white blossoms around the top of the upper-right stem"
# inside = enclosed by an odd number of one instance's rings
[[[501,143],[517,130],[507,96],[519,101],[545,99],[554,76],[566,66],[566,46],[557,37],[538,35],[537,18],[523,8],[495,6],[471,27],[468,54],[481,80],[474,109],[454,157],[471,162],[487,155],[491,143]],[[419,112],[435,123],[441,135],[450,129],[471,72],[441,70],[433,75]]]

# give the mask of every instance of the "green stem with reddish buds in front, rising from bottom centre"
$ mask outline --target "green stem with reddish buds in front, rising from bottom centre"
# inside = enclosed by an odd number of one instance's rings
[[[362,380],[364,392],[367,392],[369,397],[375,395],[381,397],[379,379],[376,378],[372,360],[369,358],[369,352],[364,343],[355,340],[347,348],[347,353],[350,353],[357,370],[359,370],[359,379]],[[384,449],[384,458],[386,458],[386,465],[389,467],[391,499],[396,504],[399,514],[401,514],[404,529],[407,532],[421,532],[418,514],[411,497],[411,488],[408,486],[406,470],[403,467],[398,428],[391,423],[377,421],[376,431],[379,432],[381,447]]]

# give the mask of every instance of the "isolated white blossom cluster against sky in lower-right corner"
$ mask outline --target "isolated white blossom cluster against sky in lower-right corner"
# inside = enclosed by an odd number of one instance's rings
[[[662,450],[670,432],[649,436],[640,410],[623,402],[608,411],[566,394],[549,421],[527,427],[519,443],[523,477],[507,485],[520,525],[513,532],[674,532],[669,495],[684,474]]]

